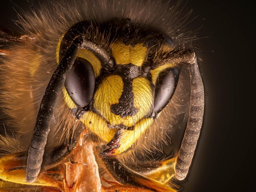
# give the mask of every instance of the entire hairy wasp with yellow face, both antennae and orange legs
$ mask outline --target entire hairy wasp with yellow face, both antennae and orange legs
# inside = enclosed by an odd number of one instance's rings
[[[195,53],[172,39],[169,7],[59,0],[20,16],[25,35],[1,31],[0,190],[177,190],[204,89]],[[171,156],[162,148],[179,126]]]

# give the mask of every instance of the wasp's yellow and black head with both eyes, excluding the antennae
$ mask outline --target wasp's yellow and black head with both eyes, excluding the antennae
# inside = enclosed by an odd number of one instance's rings
[[[57,48],[59,60],[77,36],[85,40],[65,80],[66,103],[86,127],[108,142],[110,149],[103,154],[119,154],[153,123],[173,96],[179,69],[155,59],[158,49],[171,47],[172,40],[130,19],[84,21],[63,35]]]

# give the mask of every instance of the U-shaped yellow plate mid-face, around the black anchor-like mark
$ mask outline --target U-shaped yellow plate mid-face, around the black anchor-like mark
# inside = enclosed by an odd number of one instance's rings
[[[150,112],[153,103],[153,94],[150,82],[143,77],[135,78],[132,81],[134,104],[138,113],[134,116],[121,116],[113,114],[111,105],[119,103],[124,83],[120,76],[111,75],[102,80],[95,95],[94,107],[97,113],[101,114],[111,125],[125,125],[132,127],[141,118]]]

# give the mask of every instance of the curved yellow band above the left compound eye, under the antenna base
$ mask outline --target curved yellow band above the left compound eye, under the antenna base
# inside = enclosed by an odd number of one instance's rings
[[[81,57],[88,60],[94,69],[95,78],[99,76],[102,68],[101,62],[91,51],[87,49],[79,49],[77,57]]]

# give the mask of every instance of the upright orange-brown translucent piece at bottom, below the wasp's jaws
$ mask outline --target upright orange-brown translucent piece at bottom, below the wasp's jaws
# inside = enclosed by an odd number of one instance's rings
[[[93,153],[93,144],[80,137],[74,162],[67,162],[65,192],[101,192],[98,165]]]

